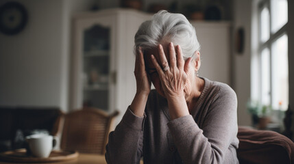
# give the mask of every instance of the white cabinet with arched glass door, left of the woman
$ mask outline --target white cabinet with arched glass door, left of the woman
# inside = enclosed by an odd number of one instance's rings
[[[71,110],[90,106],[123,115],[136,93],[134,35],[150,18],[123,9],[74,16]]]

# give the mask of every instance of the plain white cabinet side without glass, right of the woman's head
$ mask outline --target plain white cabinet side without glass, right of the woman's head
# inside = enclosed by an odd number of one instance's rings
[[[201,46],[199,76],[230,85],[230,23],[191,21],[191,24]]]

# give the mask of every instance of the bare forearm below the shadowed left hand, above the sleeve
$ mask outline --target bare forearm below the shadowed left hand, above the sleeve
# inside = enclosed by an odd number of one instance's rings
[[[143,117],[147,99],[148,94],[136,93],[130,108],[132,112],[138,117]]]

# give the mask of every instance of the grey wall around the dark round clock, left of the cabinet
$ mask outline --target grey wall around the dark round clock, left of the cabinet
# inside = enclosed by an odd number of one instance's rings
[[[93,1],[19,2],[29,20],[15,36],[0,33],[0,105],[55,106],[66,111],[70,17],[87,10]]]

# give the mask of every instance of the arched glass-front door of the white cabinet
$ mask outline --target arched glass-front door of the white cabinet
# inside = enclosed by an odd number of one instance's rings
[[[82,15],[74,20],[71,109],[114,111],[114,27],[111,14]],[[111,99],[110,99],[111,98]]]

